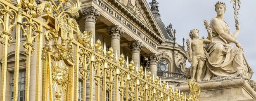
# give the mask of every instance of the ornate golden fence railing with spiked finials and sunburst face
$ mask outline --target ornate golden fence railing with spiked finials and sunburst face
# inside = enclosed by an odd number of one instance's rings
[[[200,88],[194,81],[187,97],[152,76],[143,67],[120,58],[100,40],[93,43],[92,33],[81,33],[73,17],[78,17],[81,2],[17,0],[17,5],[0,0],[0,42],[2,74],[0,101],[6,101],[7,54],[15,48],[14,101],[18,100],[20,49],[26,54],[25,100],[78,101],[79,75],[83,79],[83,101],[195,101]],[[70,3],[68,9],[62,4]],[[21,35],[26,40],[20,47]],[[15,36],[15,44],[11,45]],[[74,37],[75,36],[75,37]],[[103,55],[102,55],[103,54]],[[108,58],[107,58],[108,54]],[[36,55],[36,94],[30,97],[31,56]],[[125,68],[126,65],[126,68]],[[89,82],[89,87],[86,87]],[[89,89],[88,89],[89,88]],[[86,93],[89,92],[89,95]],[[108,96],[107,96],[108,94]]]

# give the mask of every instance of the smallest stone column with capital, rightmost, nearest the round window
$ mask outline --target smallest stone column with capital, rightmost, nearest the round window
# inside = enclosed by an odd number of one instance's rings
[[[151,74],[155,74],[156,75],[156,71],[157,71],[157,62],[158,62],[158,56],[156,54],[150,54],[149,56],[149,71],[151,72]]]

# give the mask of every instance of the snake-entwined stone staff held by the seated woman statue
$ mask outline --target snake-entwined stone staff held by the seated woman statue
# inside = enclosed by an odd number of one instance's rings
[[[241,1],[240,0],[231,0],[231,2],[233,2],[233,8],[234,8],[234,14],[235,14],[235,25],[236,25],[236,28],[237,28],[237,26],[239,25],[238,10],[240,9]],[[247,61],[247,58],[245,57],[244,50],[243,50],[243,57],[244,57],[245,63],[247,64],[248,72],[252,73],[251,67],[250,67],[250,65]]]

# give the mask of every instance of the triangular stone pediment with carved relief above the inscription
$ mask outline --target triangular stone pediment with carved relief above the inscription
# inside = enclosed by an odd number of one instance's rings
[[[156,42],[161,44],[165,41],[164,36],[148,6],[146,0],[108,0],[117,7],[123,14],[128,16],[137,26],[149,36],[152,36]]]

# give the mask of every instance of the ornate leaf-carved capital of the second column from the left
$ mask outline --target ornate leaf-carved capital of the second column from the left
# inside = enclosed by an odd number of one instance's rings
[[[107,30],[109,31],[111,39],[120,40],[121,35],[124,33],[123,28],[119,27],[118,25],[107,27]]]

